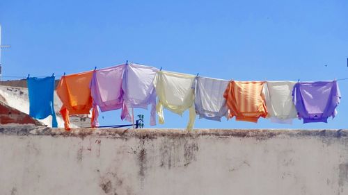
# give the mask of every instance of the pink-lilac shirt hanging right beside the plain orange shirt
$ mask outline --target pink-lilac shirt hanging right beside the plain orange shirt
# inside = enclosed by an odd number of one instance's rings
[[[118,65],[93,71],[90,92],[93,105],[102,112],[122,108],[121,119],[130,121],[129,113],[123,100],[122,76],[126,65]]]

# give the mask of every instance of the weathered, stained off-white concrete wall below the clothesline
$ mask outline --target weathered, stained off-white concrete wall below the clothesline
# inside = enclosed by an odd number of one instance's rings
[[[0,194],[348,194],[348,130],[0,126]]]

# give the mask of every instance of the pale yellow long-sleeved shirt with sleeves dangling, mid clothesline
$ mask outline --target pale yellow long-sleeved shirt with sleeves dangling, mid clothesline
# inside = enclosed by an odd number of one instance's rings
[[[185,110],[189,109],[187,129],[193,128],[196,118],[193,94],[195,77],[172,71],[157,71],[154,85],[159,98],[157,102],[159,124],[164,124],[163,107],[178,115],[182,115]]]

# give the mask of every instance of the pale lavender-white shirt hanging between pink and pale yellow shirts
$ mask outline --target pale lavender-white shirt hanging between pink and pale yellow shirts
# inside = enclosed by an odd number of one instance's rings
[[[150,125],[156,125],[156,90],[153,80],[158,69],[129,63],[123,75],[122,89],[127,110],[131,108],[148,109],[151,104]],[[131,117],[131,115],[127,115]],[[131,120],[131,119],[128,119]]]

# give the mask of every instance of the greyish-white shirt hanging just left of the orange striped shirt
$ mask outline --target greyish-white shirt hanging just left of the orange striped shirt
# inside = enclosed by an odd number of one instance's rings
[[[230,81],[198,76],[196,78],[196,113],[200,118],[221,121],[228,118],[228,108],[223,92]]]

